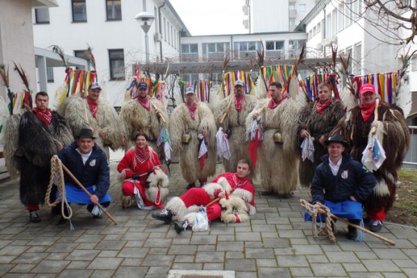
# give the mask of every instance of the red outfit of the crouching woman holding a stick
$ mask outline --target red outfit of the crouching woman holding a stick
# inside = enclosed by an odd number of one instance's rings
[[[122,193],[126,197],[136,195],[139,198],[138,206],[140,208],[163,208],[163,200],[167,197],[167,186],[161,188],[159,194],[149,191],[149,176],[153,176],[154,167],[161,165],[158,159],[158,154],[150,148],[140,149],[135,146],[130,149],[119,165],[117,165],[117,172],[122,173]],[[161,171],[161,170],[159,170]],[[161,173],[163,174],[163,172]],[[163,174],[165,176],[165,174]],[[167,181],[167,179],[165,179]],[[156,188],[157,190],[158,188]]]

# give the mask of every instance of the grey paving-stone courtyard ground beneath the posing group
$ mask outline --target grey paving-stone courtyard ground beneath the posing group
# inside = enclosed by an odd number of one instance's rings
[[[19,202],[17,181],[0,184],[0,276],[2,277],[167,277],[170,270],[234,270],[236,277],[417,277],[417,231],[387,224],[382,236],[355,243],[313,240],[311,223],[302,219],[297,191],[293,199],[263,197],[256,182],[258,213],[250,222],[211,223],[210,231],[177,235],[153,220],[150,211],[123,210],[112,163],[113,224],[93,220],[85,207],[73,206],[75,230],[58,227],[58,215],[42,207],[42,222],[28,222]],[[218,165],[220,173],[222,167]],[[186,182],[172,165],[170,196]]]

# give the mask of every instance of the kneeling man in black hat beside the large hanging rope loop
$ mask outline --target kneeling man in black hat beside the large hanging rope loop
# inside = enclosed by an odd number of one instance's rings
[[[58,157],[92,195],[88,197],[65,173],[67,202],[87,204],[87,210],[92,213],[93,218],[100,218],[101,210],[95,204],[100,203],[106,208],[111,202],[111,197],[107,193],[110,186],[110,170],[106,154],[95,144],[94,139],[91,129],[81,129],[76,140],[58,152]],[[66,210],[65,213],[67,214]],[[67,220],[61,216],[58,224],[65,223]]]

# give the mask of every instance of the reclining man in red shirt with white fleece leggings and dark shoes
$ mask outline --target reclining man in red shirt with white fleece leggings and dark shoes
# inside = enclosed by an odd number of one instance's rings
[[[161,213],[153,213],[152,217],[170,224],[175,222],[175,230],[181,233],[186,227],[193,226],[194,218],[188,218],[187,213],[199,211],[199,206],[206,206],[214,199],[224,198],[226,195],[236,196],[243,199],[249,215],[256,213],[255,208],[255,188],[249,179],[249,162],[242,159],[238,161],[235,173],[226,172],[220,174],[203,188],[190,188],[181,197],[174,197],[167,203]],[[206,207],[208,221],[220,218],[222,207],[218,202],[214,202]],[[239,222],[237,220],[236,222]]]

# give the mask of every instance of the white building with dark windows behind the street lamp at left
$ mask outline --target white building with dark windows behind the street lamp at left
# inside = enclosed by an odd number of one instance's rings
[[[65,54],[85,58],[90,45],[99,82],[114,106],[119,106],[133,64],[145,60],[145,33],[135,16],[143,11],[155,20],[148,31],[151,61],[179,58],[181,33],[188,29],[167,0],[60,1],[56,8],[33,10],[36,47],[58,44]],[[65,69],[48,70],[47,91],[53,96],[63,83]]]

